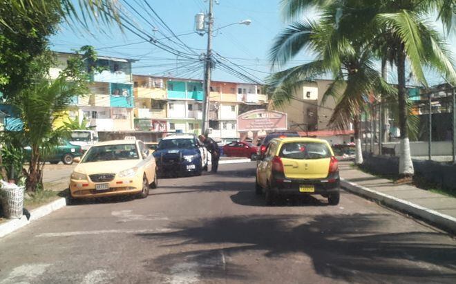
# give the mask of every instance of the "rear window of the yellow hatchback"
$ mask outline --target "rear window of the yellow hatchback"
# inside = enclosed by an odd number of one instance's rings
[[[282,145],[279,156],[298,160],[322,159],[330,158],[331,151],[324,143],[289,142]]]

